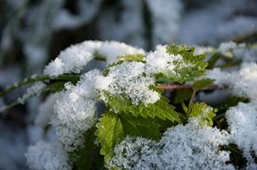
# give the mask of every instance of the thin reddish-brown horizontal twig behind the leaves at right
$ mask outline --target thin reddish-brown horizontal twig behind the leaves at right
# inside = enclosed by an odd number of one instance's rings
[[[178,89],[191,89],[193,85],[178,85],[178,84],[158,84],[157,88],[162,90],[178,90]],[[215,90],[227,88],[226,85],[209,85],[202,90]]]

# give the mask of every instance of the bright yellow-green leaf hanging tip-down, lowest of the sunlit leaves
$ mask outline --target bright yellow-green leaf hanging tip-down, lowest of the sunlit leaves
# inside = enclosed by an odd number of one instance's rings
[[[106,112],[99,119],[96,131],[97,140],[101,144],[100,154],[104,155],[106,163],[113,156],[113,148],[126,136],[119,115]]]

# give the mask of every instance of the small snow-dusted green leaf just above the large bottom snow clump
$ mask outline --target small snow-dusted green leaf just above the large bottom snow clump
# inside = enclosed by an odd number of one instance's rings
[[[208,106],[203,102],[196,102],[189,106],[187,116],[201,118],[201,125],[212,126],[212,119],[216,116],[216,114],[213,112],[213,108],[211,106]]]

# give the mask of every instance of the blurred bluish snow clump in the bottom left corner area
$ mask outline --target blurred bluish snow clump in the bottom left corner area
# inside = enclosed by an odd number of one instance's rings
[[[60,142],[39,141],[28,147],[25,156],[29,168],[33,170],[72,170],[68,154]]]

